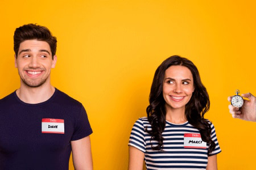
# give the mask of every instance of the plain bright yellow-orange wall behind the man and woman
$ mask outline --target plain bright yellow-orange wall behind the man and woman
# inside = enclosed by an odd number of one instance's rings
[[[94,169],[127,169],[130,130],[146,116],[156,67],[174,54],[195,63],[209,92],[218,168],[255,169],[256,123],[232,118],[227,101],[237,88],[256,95],[255,1],[2,0],[0,7],[0,98],[19,87],[15,28],[47,26],[58,40],[52,84],[88,112]]]

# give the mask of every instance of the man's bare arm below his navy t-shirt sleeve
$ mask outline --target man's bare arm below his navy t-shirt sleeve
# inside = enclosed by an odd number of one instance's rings
[[[90,137],[71,141],[73,165],[76,170],[93,169]]]

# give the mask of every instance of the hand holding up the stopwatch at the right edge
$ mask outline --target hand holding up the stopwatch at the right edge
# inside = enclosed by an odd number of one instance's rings
[[[233,118],[256,122],[256,97],[250,93],[242,94],[242,97],[246,97],[249,100],[243,100],[243,106],[240,109],[230,104],[229,112]],[[232,96],[229,96],[228,101],[231,101],[231,99]]]

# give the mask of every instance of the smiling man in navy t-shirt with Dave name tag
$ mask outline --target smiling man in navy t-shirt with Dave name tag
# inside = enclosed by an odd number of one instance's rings
[[[56,37],[27,24],[14,33],[20,88],[0,100],[0,169],[92,169],[92,133],[84,107],[53,87]]]

